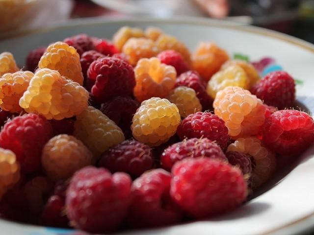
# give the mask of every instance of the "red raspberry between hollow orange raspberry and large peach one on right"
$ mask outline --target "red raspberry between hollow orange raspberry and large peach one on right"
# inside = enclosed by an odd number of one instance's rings
[[[177,77],[175,87],[192,88],[201,102],[203,110],[212,109],[212,98],[206,92],[206,83],[196,71],[187,71]]]

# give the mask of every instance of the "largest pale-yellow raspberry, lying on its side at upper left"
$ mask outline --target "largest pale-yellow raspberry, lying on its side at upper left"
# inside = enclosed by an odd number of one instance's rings
[[[38,70],[30,80],[20,106],[27,113],[60,120],[81,113],[88,106],[89,94],[77,82],[67,80],[58,71]]]

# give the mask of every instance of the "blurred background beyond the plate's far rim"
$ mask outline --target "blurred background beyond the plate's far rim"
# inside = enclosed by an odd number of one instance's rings
[[[314,0],[0,0],[0,35],[75,18],[139,15],[226,19],[314,43]]]

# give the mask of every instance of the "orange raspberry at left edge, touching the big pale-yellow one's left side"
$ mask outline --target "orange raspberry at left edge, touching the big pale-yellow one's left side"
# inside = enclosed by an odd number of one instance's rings
[[[2,110],[11,113],[19,113],[23,110],[19,101],[33,76],[34,73],[30,71],[17,71],[5,73],[0,77],[0,107]]]

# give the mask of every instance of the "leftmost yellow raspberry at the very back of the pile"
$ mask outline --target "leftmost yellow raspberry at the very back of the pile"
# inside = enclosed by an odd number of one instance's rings
[[[112,42],[115,47],[119,51],[122,50],[122,47],[124,44],[130,39],[130,38],[145,38],[145,34],[142,29],[140,28],[131,28],[128,26],[124,26],[120,28],[112,38]]]

